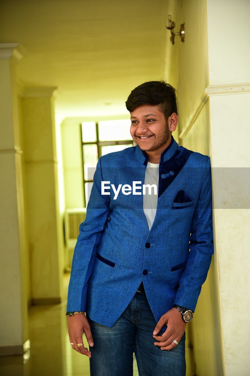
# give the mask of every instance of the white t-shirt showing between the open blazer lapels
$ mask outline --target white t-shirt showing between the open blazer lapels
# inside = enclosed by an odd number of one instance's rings
[[[150,163],[148,162],[147,168],[145,171],[145,180],[144,184],[155,184],[157,186],[156,194],[154,187],[151,188],[151,194],[146,187],[146,194],[143,195],[143,211],[148,221],[149,230],[154,222],[155,213],[157,209],[157,200],[158,200],[158,181],[159,181],[159,163]]]

